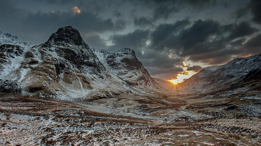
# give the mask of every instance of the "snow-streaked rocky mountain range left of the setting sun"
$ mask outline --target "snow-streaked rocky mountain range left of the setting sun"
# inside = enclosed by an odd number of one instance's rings
[[[71,26],[59,28],[38,46],[26,48],[17,39],[3,40],[10,44],[1,45],[0,92],[88,101],[119,94],[150,95],[161,88],[133,50],[99,51],[98,58]]]

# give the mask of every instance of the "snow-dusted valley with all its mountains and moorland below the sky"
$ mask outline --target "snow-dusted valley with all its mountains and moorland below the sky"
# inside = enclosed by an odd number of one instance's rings
[[[71,26],[0,45],[0,145],[261,145],[261,54],[173,84]]]

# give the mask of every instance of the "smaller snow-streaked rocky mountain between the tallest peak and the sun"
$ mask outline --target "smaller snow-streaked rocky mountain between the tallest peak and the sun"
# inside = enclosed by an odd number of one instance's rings
[[[110,69],[128,85],[142,91],[161,92],[164,90],[137,59],[134,50],[122,48],[115,52],[107,52],[94,49],[94,52],[106,68]]]

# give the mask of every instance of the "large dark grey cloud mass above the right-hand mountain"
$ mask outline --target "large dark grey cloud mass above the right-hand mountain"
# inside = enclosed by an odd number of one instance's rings
[[[178,29],[178,33],[175,25],[159,25],[151,34],[151,47],[210,65],[230,61],[231,55],[242,53],[243,50],[237,47],[244,43],[244,37],[258,32],[247,22],[222,25],[211,19],[197,20],[190,27]]]

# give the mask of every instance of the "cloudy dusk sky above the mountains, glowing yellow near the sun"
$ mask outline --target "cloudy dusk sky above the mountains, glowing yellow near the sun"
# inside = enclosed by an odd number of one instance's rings
[[[260,0],[0,0],[0,31],[39,45],[72,26],[90,46],[131,48],[153,77],[188,78],[261,53]]]

